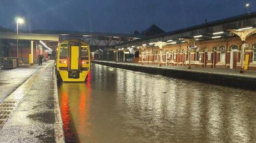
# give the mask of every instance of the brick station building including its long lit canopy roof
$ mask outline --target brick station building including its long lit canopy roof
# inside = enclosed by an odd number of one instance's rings
[[[188,66],[205,68],[241,68],[241,49],[249,55],[248,70],[256,71],[256,12],[203,23],[143,40],[120,44],[116,49],[137,47],[140,64]],[[245,42],[229,29],[251,31]],[[193,39],[194,49],[185,39]],[[244,62],[243,62],[244,63]]]

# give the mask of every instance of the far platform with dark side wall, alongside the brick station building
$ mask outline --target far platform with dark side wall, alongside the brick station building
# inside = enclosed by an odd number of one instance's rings
[[[91,60],[91,62],[95,64],[112,66],[131,71],[140,71],[167,77],[175,77],[198,82],[224,85],[234,88],[256,90],[256,72],[254,71],[245,71],[244,73],[239,73],[238,70],[233,69],[213,69],[201,67],[192,67],[191,69],[188,69],[188,67],[186,66],[159,66],[149,64],[141,65],[138,63],[115,62],[105,60]]]

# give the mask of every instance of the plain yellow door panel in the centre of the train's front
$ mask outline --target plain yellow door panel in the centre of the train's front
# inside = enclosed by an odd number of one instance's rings
[[[79,46],[71,46],[71,70],[78,70]]]

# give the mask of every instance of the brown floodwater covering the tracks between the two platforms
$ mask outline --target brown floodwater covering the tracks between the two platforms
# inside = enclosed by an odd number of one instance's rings
[[[255,143],[256,92],[91,65],[59,83],[67,143]]]

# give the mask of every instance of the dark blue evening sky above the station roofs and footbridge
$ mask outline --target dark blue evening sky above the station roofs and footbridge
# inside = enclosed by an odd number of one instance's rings
[[[0,0],[0,26],[24,30],[133,33],[155,24],[172,31],[256,11],[256,0]]]

